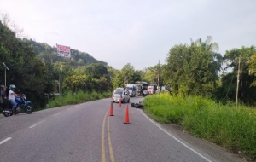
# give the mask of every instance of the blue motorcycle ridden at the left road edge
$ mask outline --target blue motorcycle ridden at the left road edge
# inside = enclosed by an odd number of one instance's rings
[[[20,113],[21,110],[23,112],[30,114],[33,112],[33,105],[31,101],[26,101],[26,95],[21,94],[19,97],[15,98],[15,102],[17,103],[16,106],[16,113]],[[3,100],[3,115],[5,117],[12,116],[15,113],[15,107],[12,107],[12,104],[4,97]]]

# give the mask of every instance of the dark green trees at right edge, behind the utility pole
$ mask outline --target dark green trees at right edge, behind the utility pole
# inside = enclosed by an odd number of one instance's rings
[[[237,73],[240,64],[240,77],[238,84],[239,100],[247,104],[252,104],[255,101],[255,52],[256,50],[254,46],[241,47],[241,49],[230,49],[226,51],[224,55],[224,61],[227,63],[225,68],[231,67],[232,72],[222,78],[221,82],[223,86],[218,90],[219,99],[230,98],[234,100],[236,98]]]

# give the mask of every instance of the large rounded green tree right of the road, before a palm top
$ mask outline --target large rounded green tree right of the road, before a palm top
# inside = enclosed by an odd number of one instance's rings
[[[180,95],[212,96],[216,90],[222,56],[216,51],[218,43],[201,39],[190,45],[180,44],[170,49],[163,70],[164,82],[172,85],[172,92]]]

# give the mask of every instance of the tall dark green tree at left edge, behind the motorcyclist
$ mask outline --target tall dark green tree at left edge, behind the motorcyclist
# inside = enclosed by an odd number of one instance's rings
[[[44,63],[36,58],[31,45],[16,38],[15,32],[3,26],[1,22],[0,33],[0,60],[9,67],[7,85],[15,84],[17,90],[25,93],[35,107],[44,107],[47,103],[44,93],[51,90],[48,70]],[[3,67],[2,69],[1,74],[4,72]]]

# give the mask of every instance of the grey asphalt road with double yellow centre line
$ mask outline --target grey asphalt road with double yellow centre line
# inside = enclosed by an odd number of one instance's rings
[[[243,161],[224,148],[160,125],[111,99],[0,117],[0,162]],[[126,107],[129,123],[124,124]]]

